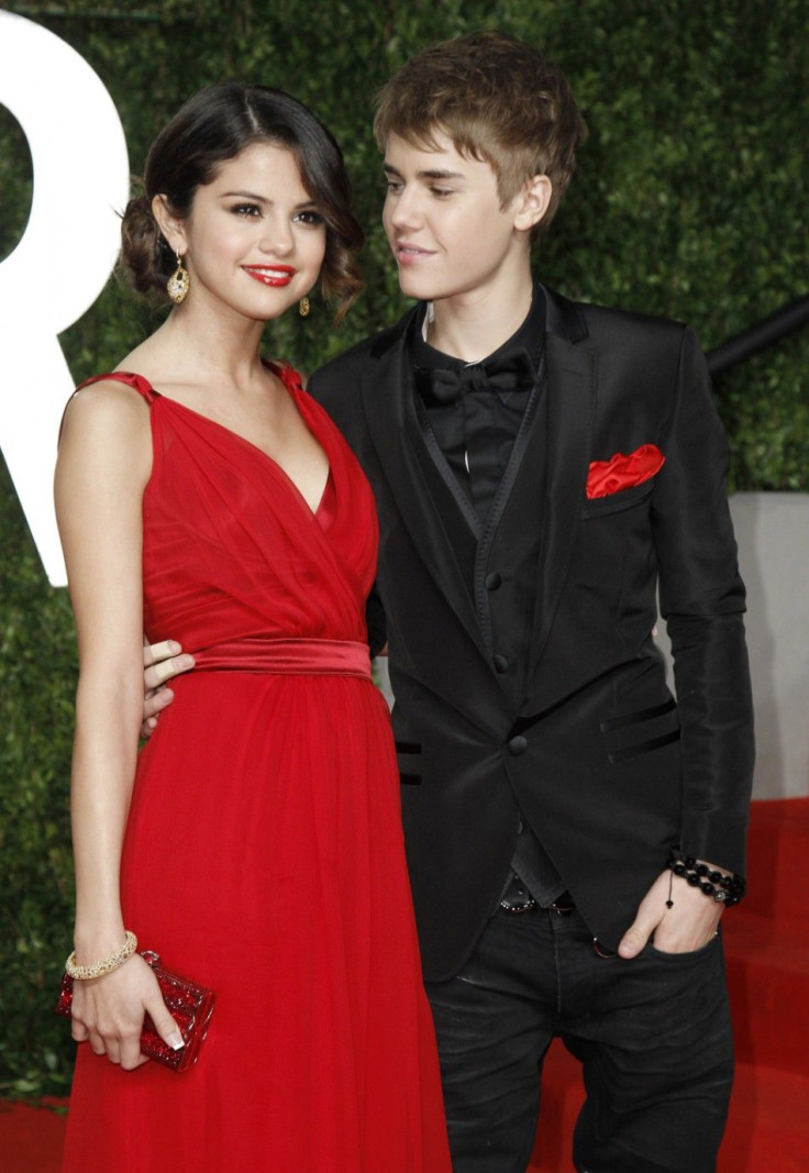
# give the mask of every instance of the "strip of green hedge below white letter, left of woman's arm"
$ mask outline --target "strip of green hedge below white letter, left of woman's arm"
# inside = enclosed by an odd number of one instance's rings
[[[76,664],[70,604],[49,585],[0,465],[0,1093],[67,1086],[52,1013],[69,952],[68,780]]]

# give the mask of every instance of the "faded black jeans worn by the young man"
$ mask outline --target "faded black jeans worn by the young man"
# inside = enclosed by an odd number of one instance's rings
[[[578,913],[498,911],[451,982],[428,983],[455,1173],[524,1173],[539,1073],[583,1064],[579,1173],[712,1173],[733,1083],[721,938],[599,957]]]

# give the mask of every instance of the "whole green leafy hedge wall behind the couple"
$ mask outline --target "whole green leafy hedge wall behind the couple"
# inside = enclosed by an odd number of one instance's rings
[[[402,307],[379,226],[373,93],[414,49],[481,27],[543,46],[567,70],[590,124],[573,185],[537,257],[549,284],[688,320],[706,347],[807,292],[805,0],[163,0],[120,12],[64,0],[7,7],[62,36],[94,66],[121,113],[134,170],[184,97],[225,76],[290,89],[329,124],[369,225],[367,289],[339,332],[317,303],[305,321],[291,316],[272,327],[267,353],[288,355],[304,369]],[[47,77],[36,83],[47,86]],[[72,182],[81,176],[66,176]],[[4,257],[27,219],[30,161],[1,108],[0,191]],[[152,323],[154,312],[113,278],[62,338],[76,380],[117,362]],[[807,369],[804,331],[721,380],[736,488],[807,489]],[[50,1005],[70,948],[75,655],[66,594],[45,581],[5,469],[0,554],[0,1091],[59,1092],[67,1086],[70,1045]]]

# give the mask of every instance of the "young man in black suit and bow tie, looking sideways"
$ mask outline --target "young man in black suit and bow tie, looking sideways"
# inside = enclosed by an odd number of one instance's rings
[[[677,323],[533,280],[584,124],[531,47],[482,33],[419,54],[375,130],[419,304],[310,389],[376,494],[372,646],[454,1167],[525,1168],[560,1036],[587,1089],[577,1169],[708,1173],[753,735],[705,360]]]

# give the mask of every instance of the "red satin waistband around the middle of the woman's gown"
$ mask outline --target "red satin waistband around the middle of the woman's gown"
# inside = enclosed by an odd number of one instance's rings
[[[245,637],[193,653],[196,669],[278,676],[360,676],[370,680],[367,644],[351,639]]]

